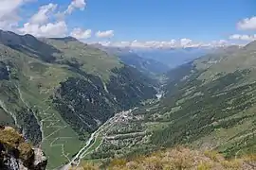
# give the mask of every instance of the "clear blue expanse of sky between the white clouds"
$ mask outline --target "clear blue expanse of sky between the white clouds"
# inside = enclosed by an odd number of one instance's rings
[[[255,0],[88,0],[82,23],[70,25],[113,29],[118,41],[190,38],[210,41],[236,33],[236,23],[256,14]]]

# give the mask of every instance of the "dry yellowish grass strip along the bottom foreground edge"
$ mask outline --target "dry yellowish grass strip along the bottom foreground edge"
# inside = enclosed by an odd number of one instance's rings
[[[216,151],[198,151],[184,147],[175,147],[173,149],[157,151],[148,156],[139,156],[131,160],[114,159],[106,165],[84,161],[78,169],[141,169],[141,170],[160,170],[160,169],[188,169],[188,170],[252,170],[255,168],[255,155],[233,160],[226,160],[221,154]]]

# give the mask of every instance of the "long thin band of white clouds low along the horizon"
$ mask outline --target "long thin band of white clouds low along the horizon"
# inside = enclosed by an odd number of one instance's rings
[[[193,42],[191,39],[171,40],[166,42],[149,41],[139,42],[137,40],[132,42],[99,42],[104,46],[116,47],[134,47],[134,48],[180,48],[180,47],[216,47],[228,45],[229,42],[225,40],[212,41],[212,42]]]

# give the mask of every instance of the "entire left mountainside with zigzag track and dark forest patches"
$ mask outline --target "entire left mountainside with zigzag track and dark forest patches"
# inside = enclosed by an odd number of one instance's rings
[[[0,117],[42,145],[49,169],[69,161],[115,112],[155,98],[152,79],[74,38],[1,31],[0,40]]]

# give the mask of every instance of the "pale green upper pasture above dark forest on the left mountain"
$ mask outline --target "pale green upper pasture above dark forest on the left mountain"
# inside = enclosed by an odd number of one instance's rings
[[[44,39],[43,41],[63,52],[62,55],[57,55],[58,59],[78,59],[83,64],[83,71],[101,76],[104,80],[107,80],[112,74],[111,69],[122,66],[117,57],[109,56],[100,49],[77,40],[65,42],[62,39]]]

